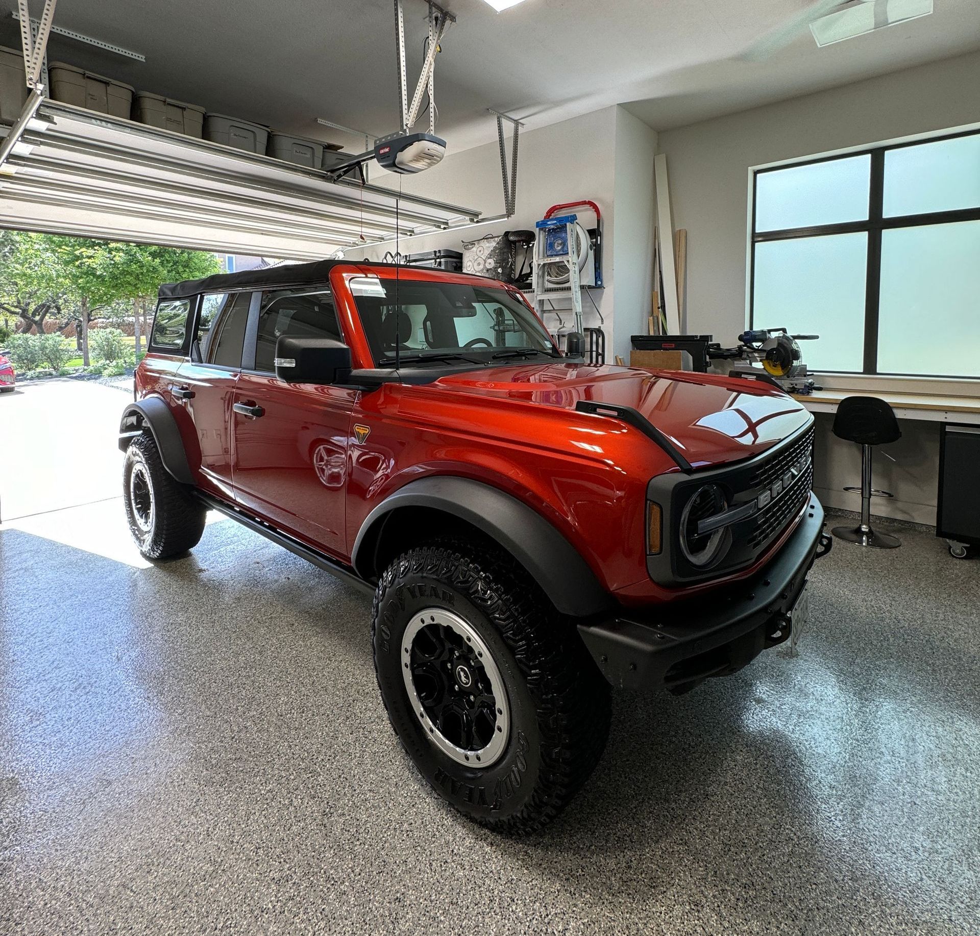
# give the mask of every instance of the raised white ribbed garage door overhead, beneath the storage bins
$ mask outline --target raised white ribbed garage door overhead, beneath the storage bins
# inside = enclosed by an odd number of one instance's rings
[[[22,230],[310,259],[479,221],[473,209],[49,99],[0,166],[0,226]]]

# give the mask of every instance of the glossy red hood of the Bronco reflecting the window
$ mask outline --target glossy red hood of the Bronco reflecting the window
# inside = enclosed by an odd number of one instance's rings
[[[630,406],[696,468],[758,455],[812,418],[795,399],[758,381],[688,371],[535,362],[450,374],[435,386],[565,410],[582,399]]]

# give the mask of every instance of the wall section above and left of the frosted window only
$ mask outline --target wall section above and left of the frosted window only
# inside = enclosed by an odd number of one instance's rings
[[[980,53],[660,134],[675,228],[687,228],[687,328],[732,342],[745,322],[752,165],[980,120]]]

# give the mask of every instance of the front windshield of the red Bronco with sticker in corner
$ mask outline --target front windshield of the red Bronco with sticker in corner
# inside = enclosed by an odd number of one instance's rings
[[[394,366],[396,347],[412,364],[558,356],[534,313],[506,290],[376,276],[349,283],[378,367]]]

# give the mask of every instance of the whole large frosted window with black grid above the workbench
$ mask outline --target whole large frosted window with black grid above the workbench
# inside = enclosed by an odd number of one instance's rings
[[[757,169],[750,325],[810,370],[980,378],[980,130]]]

